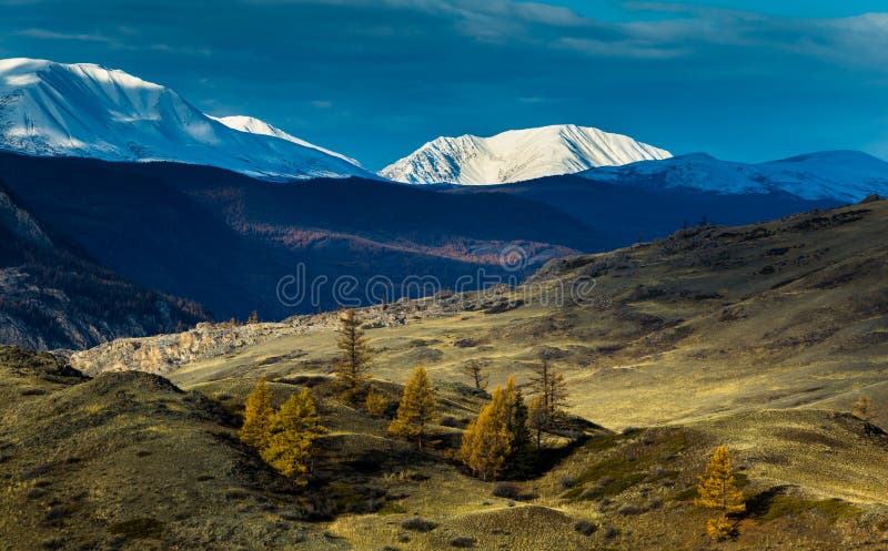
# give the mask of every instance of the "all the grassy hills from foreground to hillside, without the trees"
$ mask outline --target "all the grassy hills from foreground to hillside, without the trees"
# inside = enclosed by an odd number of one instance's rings
[[[4,349],[0,472],[21,511],[4,530],[21,549],[881,549],[888,436],[881,415],[849,411],[861,394],[886,399],[886,224],[888,202],[871,200],[694,227],[552,261],[513,288],[361,309],[382,418],[337,394],[335,313],[120,339],[71,358],[93,379]],[[582,300],[544,300],[587,277]],[[529,392],[541,357],[569,389],[551,462],[526,481],[468,476],[448,450],[488,398],[461,366]],[[423,452],[385,431],[418,364],[438,408]],[[261,376],[274,404],[305,386],[317,400],[323,459],[306,488],[236,442]],[[746,512],[714,545],[693,501],[718,445]],[[127,490],[101,490],[110,480]]]

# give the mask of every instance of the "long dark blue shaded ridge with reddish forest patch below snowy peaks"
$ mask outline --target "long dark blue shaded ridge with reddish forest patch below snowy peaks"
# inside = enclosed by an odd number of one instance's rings
[[[209,166],[0,153],[0,180],[102,266],[192,298],[218,319],[335,307],[341,277],[359,284],[346,298],[366,304],[374,276],[393,284],[381,298],[395,299],[408,277],[433,276],[438,288],[453,288],[468,276],[471,288],[482,268],[521,277],[554,257],[609,244],[536,201],[366,178],[281,185]],[[515,272],[501,265],[507,247],[525,254]],[[279,280],[297,275],[300,264],[307,283],[326,283],[315,302],[283,304]]]

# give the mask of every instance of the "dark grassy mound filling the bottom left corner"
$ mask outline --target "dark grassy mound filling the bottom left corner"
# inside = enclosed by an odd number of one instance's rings
[[[230,418],[161,377],[0,347],[0,549],[342,549]]]

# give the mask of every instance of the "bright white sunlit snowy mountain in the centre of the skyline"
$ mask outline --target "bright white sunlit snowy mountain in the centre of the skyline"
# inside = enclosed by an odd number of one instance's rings
[[[670,156],[625,135],[564,124],[492,137],[438,137],[380,175],[412,184],[504,184]]]

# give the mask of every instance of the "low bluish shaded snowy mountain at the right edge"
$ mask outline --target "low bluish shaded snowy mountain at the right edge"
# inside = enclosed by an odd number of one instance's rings
[[[579,176],[596,182],[730,195],[784,192],[809,201],[854,203],[874,193],[888,196],[888,163],[857,151],[827,151],[759,164],[719,161],[694,153],[594,169]]]

